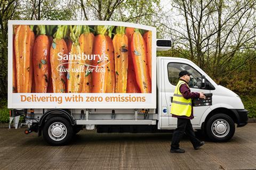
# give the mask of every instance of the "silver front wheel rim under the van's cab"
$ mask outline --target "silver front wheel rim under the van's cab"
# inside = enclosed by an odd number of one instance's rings
[[[230,131],[230,126],[225,119],[217,119],[212,124],[212,133],[216,137],[225,137]]]

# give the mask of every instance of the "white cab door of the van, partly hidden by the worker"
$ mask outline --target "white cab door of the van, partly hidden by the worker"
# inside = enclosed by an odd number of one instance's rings
[[[179,81],[179,72],[182,70],[187,70],[190,72],[190,82],[189,87],[191,92],[203,92],[203,93],[210,93],[210,90],[204,90],[201,88],[201,77],[202,74],[197,71],[194,64],[182,61],[182,62],[174,62],[175,60],[164,59],[164,84],[165,84],[165,98],[166,98],[166,106],[168,107],[168,111],[170,113],[171,104],[172,104],[172,97],[174,94],[175,86]],[[191,66],[193,65],[193,66]],[[194,107],[194,119],[191,120],[191,124],[194,127],[199,127],[199,122],[204,114],[204,112],[210,106],[201,106],[201,107]],[[177,118],[173,118],[171,114],[169,114],[169,127],[175,128],[177,127]]]

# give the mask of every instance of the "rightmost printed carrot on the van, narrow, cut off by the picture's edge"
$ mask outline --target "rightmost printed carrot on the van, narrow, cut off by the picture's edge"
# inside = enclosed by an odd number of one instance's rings
[[[147,31],[144,35],[143,35],[143,39],[146,43],[146,49],[147,49],[147,64],[148,64],[148,71],[149,71],[149,75],[150,75],[150,79],[152,79],[151,77],[151,70],[152,70],[152,32],[151,31]]]

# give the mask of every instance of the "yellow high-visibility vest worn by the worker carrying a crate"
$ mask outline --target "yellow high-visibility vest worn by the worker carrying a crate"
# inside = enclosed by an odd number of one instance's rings
[[[177,116],[189,117],[191,115],[191,110],[192,110],[192,99],[183,98],[180,92],[180,86],[182,84],[186,84],[188,86],[187,83],[183,82],[182,80],[179,80],[177,86],[175,87],[175,91],[173,95],[171,114],[177,115]]]

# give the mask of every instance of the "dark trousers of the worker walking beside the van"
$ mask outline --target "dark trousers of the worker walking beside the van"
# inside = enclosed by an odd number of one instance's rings
[[[179,148],[180,146],[179,143],[180,143],[180,140],[182,139],[184,132],[188,135],[189,140],[193,144],[194,148],[200,144],[201,141],[199,141],[196,138],[190,119],[178,118],[177,129],[175,129],[175,131],[172,134],[171,149]]]

